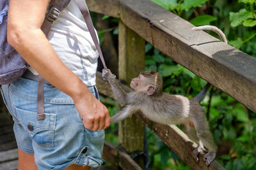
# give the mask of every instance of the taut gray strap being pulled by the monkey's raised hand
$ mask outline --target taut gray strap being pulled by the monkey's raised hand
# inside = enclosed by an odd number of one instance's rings
[[[84,17],[85,23],[86,23],[86,25],[88,27],[88,30],[89,30],[89,32],[92,36],[93,43],[96,46],[97,51],[99,52],[100,60],[103,64],[103,67],[104,67],[104,69],[107,69],[107,66],[105,64],[105,61],[104,61],[104,58],[103,58],[103,55],[102,55],[102,52],[101,52],[101,49],[100,49],[99,41],[97,39],[95,30],[94,30],[94,27],[93,27],[93,24],[92,24],[92,18],[90,16],[87,4],[85,3],[84,0],[76,0],[76,3],[77,3],[77,6],[79,7],[79,10],[81,11],[81,13]]]

